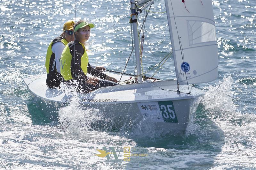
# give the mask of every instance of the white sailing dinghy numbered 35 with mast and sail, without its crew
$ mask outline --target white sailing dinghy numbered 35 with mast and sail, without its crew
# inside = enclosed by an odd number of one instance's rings
[[[86,110],[96,108],[101,119],[113,120],[114,127],[125,123],[142,124],[163,134],[180,134],[192,121],[204,91],[189,84],[210,82],[218,77],[215,22],[211,0],[165,0],[176,72],[175,80],[147,80],[141,77],[141,56],[137,17],[156,0],[131,0],[131,23],[136,56],[136,83],[103,87],[79,94]],[[120,82],[130,76],[105,72]],[[89,75],[90,76],[90,75]],[[31,94],[40,102],[45,115],[58,116],[58,108],[72,95],[45,85],[46,74],[24,78]]]

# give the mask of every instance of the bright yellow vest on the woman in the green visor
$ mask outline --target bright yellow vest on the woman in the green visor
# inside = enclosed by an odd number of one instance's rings
[[[78,43],[76,43],[78,44]],[[86,49],[84,47],[84,44],[80,43],[84,48],[84,54],[81,56],[81,69],[83,70],[84,74],[87,74],[87,65],[89,63],[89,58],[88,55],[86,53]],[[60,58],[60,74],[61,76],[64,78],[65,81],[68,81],[70,79],[72,79],[72,73],[71,73],[71,61],[72,61],[72,57],[74,57],[74,52],[73,56],[71,55],[70,52],[70,48],[72,46],[74,46],[75,43],[74,41],[69,42],[68,45],[66,45],[66,47],[64,48],[62,54],[61,54],[61,58]]]

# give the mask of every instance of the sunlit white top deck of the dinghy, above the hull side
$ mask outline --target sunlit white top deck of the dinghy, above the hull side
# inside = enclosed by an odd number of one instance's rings
[[[120,79],[121,75],[105,72],[108,76]],[[24,78],[24,82],[28,86],[30,92],[44,100],[52,102],[66,102],[72,97],[70,92],[66,92],[63,89],[49,89],[46,84],[46,74]],[[121,81],[130,79],[130,76],[123,76]],[[94,92],[81,94],[79,98],[83,100],[84,104],[90,103],[133,103],[133,102],[150,102],[150,101],[164,101],[164,100],[182,100],[199,97],[204,92],[195,87],[189,86],[190,94],[188,92],[187,85],[180,85],[181,93],[177,91],[176,80],[165,81],[144,81],[141,84],[125,84],[111,87],[103,87],[95,90]]]

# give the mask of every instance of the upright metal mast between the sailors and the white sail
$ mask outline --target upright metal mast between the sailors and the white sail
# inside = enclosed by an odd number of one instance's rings
[[[138,79],[138,83],[142,83],[141,67],[140,67],[140,48],[139,48],[137,16],[136,16],[136,4],[135,4],[135,0],[131,0],[130,2],[131,2],[131,15],[132,15],[131,22],[132,22],[133,39],[134,39],[134,47],[135,47],[137,79]]]

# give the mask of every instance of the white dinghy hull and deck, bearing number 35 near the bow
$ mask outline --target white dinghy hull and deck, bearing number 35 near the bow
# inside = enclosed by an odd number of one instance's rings
[[[40,104],[44,115],[52,120],[58,120],[59,108],[67,106],[68,99],[72,100],[72,97],[62,90],[48,89],[45,85],[45,76],[24,81]],[[153,83],[104,87],[89,94],[79,94],[78,97],[84,110],[97,109],[99,120],[111,125],[107,129],[137,128],[136,130],[143,134],[154,130],[159,131],[161,135],[185,132],[204,92],[189,87],[191,95],[177,94],[175,80]],[[188,87],[185,85],[180,86],[180,91],[185,91],[186,88]],[[93,126],[97,125],[95,122]]]

